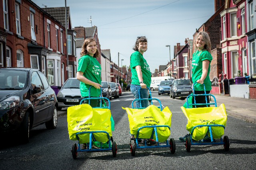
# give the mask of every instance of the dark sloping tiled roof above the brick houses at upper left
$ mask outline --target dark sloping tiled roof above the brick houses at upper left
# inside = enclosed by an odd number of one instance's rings
[[[42,8],[45,12],[50,14],[56,20],[58,20],[65,27],[65,7],[53,7],[53,8]],[[67,21],[70,16],[70,10],[67,6]],[[68,24],[67,24],[68,25]]]

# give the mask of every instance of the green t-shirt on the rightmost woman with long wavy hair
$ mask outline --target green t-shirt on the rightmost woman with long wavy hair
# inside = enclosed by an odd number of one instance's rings
[[[204,60],[208,60],[210,61],[210,63],[212,61],[212,55],[208,51],[206,50],[196,51],[193,54],[193,59],[192,59],[192,82],[193,83],[199,80],[202,76]],[[210,65],[208,67],[207,76],[204,79],[204,85],[205,85],[206,91],[212,90],[212,83],[210,81],[209,74],[210,74]],[[194,86],[194,90],[204,91],[204,85],[196,83],[196,85]]]

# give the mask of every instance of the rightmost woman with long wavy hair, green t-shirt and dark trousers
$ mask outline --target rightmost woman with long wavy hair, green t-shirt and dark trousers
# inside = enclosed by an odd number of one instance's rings
[[[212,83],[210,81],[210,63],[212,61],[211,55],[211,42],[208,33],[200,32],[196,35],[196,39],[194,42],[195,53],[193,53],[192,58],[192,82],[194,85],[194,94],[204,94],[204,86],[206,89],[206,94],[209,94],[212,90]],[[204,84],[204,85],[203,85]],[[192,104],[194,104],[194,98],[197,104],[206,104],[210,103],[209,96],[193,96]],[[193,106],[195,107],[195,106]],[[206,105],[197,105],[196,107],[207,107]],[[180,141],[185,141],[186,137],[180,137]],[[209,141],[210,137],[206,134],[204,137],[204,141]]]

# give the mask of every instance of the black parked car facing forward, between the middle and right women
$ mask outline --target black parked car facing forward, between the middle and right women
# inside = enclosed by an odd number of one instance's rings
[[[187,97],[192,93],[192,81],[187,78],[175,79],[170,85],[170,97]]]

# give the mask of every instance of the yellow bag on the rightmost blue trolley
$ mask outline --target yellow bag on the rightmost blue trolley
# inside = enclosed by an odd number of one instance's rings
[[[186,129],[191,133],[192,128],[197,125],[224,125],[226,127],[227,113],[224,104],[220,107],[198,107],[189,108],[181,107],[183,113],[188,119]],[[199,141],[204,138],[208,131],[208,127],[196,127],[192,134],[192,138]],[[212,127],[212,135],[214,139],[219,139],[224,135],[224,128],[217,126]],[[210,136],[210,133],[208,133]]]

